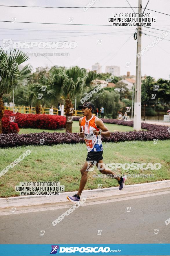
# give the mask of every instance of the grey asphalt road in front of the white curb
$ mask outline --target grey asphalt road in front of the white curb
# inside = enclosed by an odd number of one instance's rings
[[[0,243],[170,243],[170,194],[83,205],[54,227],[69,208],[0,216]]]

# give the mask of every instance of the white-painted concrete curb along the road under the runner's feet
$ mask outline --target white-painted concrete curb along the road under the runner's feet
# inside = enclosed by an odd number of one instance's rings
[[[149,194],[161,189],[170,190],[170,180],[127,185],[123,191],[119,191],[118,187],[84,190],[81,197],[85,197],[86,199],[100,199],[111,196],[128,197],[138,193]],[[60,195],[50,196],[32,195],[0,198],[0,209],[67,202],[67,196],[73,195],[76,192],[63,192]]]

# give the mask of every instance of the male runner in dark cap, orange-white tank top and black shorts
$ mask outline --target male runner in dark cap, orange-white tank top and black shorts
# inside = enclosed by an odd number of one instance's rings
[[[79,109],[82,109],[83,118],[79,120],[80,132],[79,136],[85,139],[86,147],[87,147],[87,158],[86,162],[81,168],[81,181],[78,192],[73,196],[67,196],[67,199],[71,202],[78,202],[80,200],[81,193],[85,187],[87,182],[87,173],[89,167],[93,165],[93,161],[96,161],[96,166],[98,167],[98,163],[103,163],[103,147],[101,144],[101,135],[110,137],[110,131],[104,125],[103,121],[98,117],[94,116],[93,110],[95,106],[90,102],[85,102],[83,106],[78,106]],[[87,161],[90,161],[89,164]],[[104,163],[103,163],[104,164]],[[114,175],[114,179],[117,179],[119,183],[119,190],[124,189],[126,177],[117,177],[116,173],[112,172],[111,170],[107,170],[105,165],[100,165],[100,173],[104,174],[112,174]]]

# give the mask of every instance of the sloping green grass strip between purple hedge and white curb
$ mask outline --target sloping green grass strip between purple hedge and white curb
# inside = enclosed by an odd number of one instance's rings
[[[105,163],[161,163],[160,170],[115,170],[117,174],[153,174],[152,178],[129,178],[127,184],[138,184],[170,179],[169,140],[158,141],[125,141],[119,143],[103,143]],[[25,157],[14,168],[10,168],[0,178],[0,196],[17,196],[15,186],[25,181],[60,181],[65,185],[65,191],[78,190],[81,174],[80,168],[86,161],[87,150],[84,143],[62,144],[53,146],[27,146],[0,149],[1,170],[22,155],[26,150],[31,154]],[[80,156],[81,154],[81,156]],[[79,156],[79,157],[78,157]],[[71,161],[73,160],[73,164]],[[67,165],[64,171],[61,169]],[[95,167],[88,173],[85,189],[97,189],[98,184],[103,188],[118,186],[112,178],[93,178],[100,174]]]

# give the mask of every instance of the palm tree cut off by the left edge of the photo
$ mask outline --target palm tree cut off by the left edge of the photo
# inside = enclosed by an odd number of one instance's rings
[[[22,51],[14,49],[8,54],[0,48],[0,133],[2,133],[2,117],[4,105],[2,96],[21,85],[22,82],[31,76],[32,68],[26,65],[19,69],[19,65],[29,58]]]

